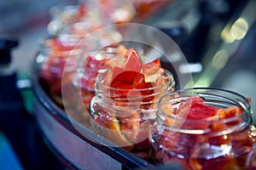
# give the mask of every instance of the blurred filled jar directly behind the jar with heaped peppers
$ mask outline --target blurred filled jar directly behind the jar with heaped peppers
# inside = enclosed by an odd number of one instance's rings
[[[119,43],[122,36],[116,28],[108,27],[84,37],[79,44],[84,44],[83,54],[77,61],[77,71],[73,77],[73,86],[81,96],[84,108],[90,111],[90,99],[95,96],[95,81],[98,71],[113,56],[124,54],[125,46]]]

